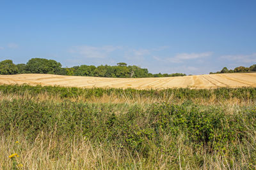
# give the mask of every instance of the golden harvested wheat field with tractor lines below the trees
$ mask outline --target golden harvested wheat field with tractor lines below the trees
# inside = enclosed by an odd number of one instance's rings
[[[60,85],[63,87],[113,87],[165,89],[173,87],[256,87],[256,73],[204,74],[166,78],[100,78],[54,74],[0,75],[1,84]]]

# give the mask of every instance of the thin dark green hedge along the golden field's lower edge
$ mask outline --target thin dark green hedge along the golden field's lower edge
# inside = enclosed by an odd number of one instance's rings
[[[3,94],[31,94],[47,93],[48,95],[67,97],[102,97],[106,95],[115,95],[117,97],[125,96],[129,99],[137,99],[140,97],[153,97],[164,99],[164,97],[172,97],[172,99],[191,100],[191,99],[210,99],[215,97],[216,101],[227,99],[241,99],[243,101],[256,100],[255,87],[243,88],[218,88],[218,89],[164,89],[164,90],[136,90],[136,89],[104,89],[92,88],[83,89],[77,87],[52,87],[52,86],[30,86],[30,85],[0,85],[0,91]]]

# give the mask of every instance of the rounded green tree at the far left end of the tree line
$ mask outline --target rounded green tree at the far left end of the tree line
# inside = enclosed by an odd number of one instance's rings
[[[17,74],[18,67],[13,64],[12,60],[3,60],[0,62],[0,74]]]

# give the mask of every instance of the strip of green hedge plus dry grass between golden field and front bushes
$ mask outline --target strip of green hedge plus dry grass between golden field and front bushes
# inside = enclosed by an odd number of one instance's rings
[[[191,100],[200,104],[252,104],[256,101],[256,88],[220,89],[82,89],[77,87],[52,87],[30,85],[0,85],[2,99],[34,99],[36,101],[65,100],[90,103],[183,103]]]

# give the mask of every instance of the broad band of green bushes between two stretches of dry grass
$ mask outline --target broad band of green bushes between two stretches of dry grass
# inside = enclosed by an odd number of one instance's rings
[[[250,129],[256,128],[255,109],[226,115],[223,110],[191,102],[129,107],[124,111],[124,106],[116,104],[1,101],[0,132],[17,131],[33,141],[40,132],[55,128],[58,136],[82,135],[95,141],[117,142],[121,148],[148,157],[150,143],[161,148],[166,135],[175,139],[185,134],[195,150],[204,146],[208,152],[225,153],[230,149],[227,144],[243,143],[250,138]]]

